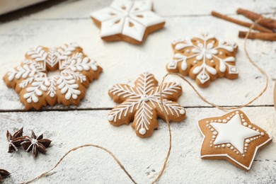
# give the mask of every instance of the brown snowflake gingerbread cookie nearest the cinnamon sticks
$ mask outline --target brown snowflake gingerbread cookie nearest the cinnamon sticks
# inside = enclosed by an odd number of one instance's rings
[[[198,35],[173,42],[174,57],[167,64],[169,72],[180,73],[195,79],[204,88],[217,77],[236,79],[235,66],[237,45],[214,38],[213,35]]]

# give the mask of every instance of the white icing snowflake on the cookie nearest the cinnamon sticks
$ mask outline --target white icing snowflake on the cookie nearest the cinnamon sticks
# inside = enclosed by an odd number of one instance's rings
[[[228,42],[223,42],[222,40],[218,40],[218,45],[214,47],[214,42],[208,42],[208,40],[214,38],[214,35],[198,35],[197,37],[203,40],[203,44],[202,42],[197,40],[197,45],[195,45],[192,42],[191,38],[185,38],[183,40],[178,40],[173,42],[173,44],[175,44],[175,49],[179,51],[185,48],[191,47],[191,49],[189,49],[189,52],[191,51],[193,54],[191,54],[190,56],[186,57],[182,54],[177,53],[178,55],[182,55],[182,57],[185,59],[178,59],[179,57],[176,57],[176,54],[175,54],[176,59],[174,60],[174,62],[176,63],[182,62],[181,69],[183,71],[188,69],[187,60],[192,57],[195,57],[197,61],[202,61],[202,64],[195,65],[195,67],[192,67],[191,70],[192,70],[192,74],[197,74],[197,79],[200,80],[201,84],[205,84],[206,81],[209,81],[210,79],[209,74],[211,75],[217,74],[217,70],[214,69],[214,67],[208,65],[208,63],[206,62],[207,59],[209,59],[211,63],[214,63],[214,59],[219,60],[220,72],[225,72],[226,68],[228,67],[229,74],[238,74],[238,70],[236,69],[236,67],[229,64],[231,62],[235,62],[235,58],[226,57],[225,59],[222,59],[220,58],[222,57],[220,55],[222,55],[223,52],[218,51],[218,50],[226,50],[229,52],[233,52],[234,47],[236,47],[235,45],[232,45]],[[194,61],[194,63],[197,63],[197,62]],[[177,68],[177,65],[175,64],[173,69],[176,69],[176,68]],[[168,69],[171,69],[171,68],[168,67]]]

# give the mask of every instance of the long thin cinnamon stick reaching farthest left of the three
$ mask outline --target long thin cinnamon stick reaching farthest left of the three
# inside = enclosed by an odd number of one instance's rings
[[[244,22],[244,21],[239,21],[236,18],[231,18],[229,16],[218,13],[217,11],[212,11],[211,14],[212,14],[212,16],[215,16],[217,18],[222,18],[225,21],[229,21],[231,23],[236,23],[238,25],[242,25],[242,26],[247,27],[247,28],[250,28],[251,25],[253,25],[253,23],[247,23],[247,22]],[[268,28],[264,28],[263,26],[260,26],[260,25],[254,25],[253,30],[259,30],[260,32],[265,32],[265,33],[273,33],[272,30],[270,30]]]

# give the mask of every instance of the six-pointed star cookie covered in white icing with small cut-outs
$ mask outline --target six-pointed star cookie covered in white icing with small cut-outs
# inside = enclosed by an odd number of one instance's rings
[[[163,28],[165,21],[152,11],[151,0],[114,0],[107,7],[91,13],[105,41],[125,40],[141,44],[149,33]]]

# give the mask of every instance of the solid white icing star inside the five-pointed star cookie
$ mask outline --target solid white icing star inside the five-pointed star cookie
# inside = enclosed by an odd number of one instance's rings
[[[227,123],[210,123],[217,132],[219,132],[217,139],[214,144],[222,144],[229,142],[238,149],[238,151],[243,154],[243,142],[247,137],[253,137],[260,132],[251,130],[248,127],[241,125],[241,118],[239,115],[234,115],[234,117]]]

